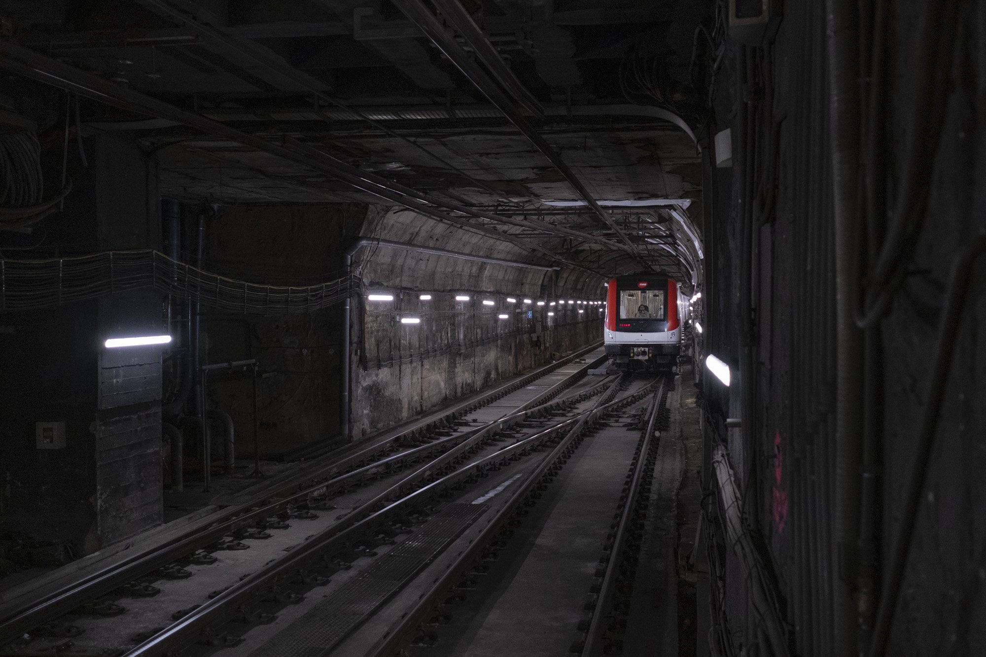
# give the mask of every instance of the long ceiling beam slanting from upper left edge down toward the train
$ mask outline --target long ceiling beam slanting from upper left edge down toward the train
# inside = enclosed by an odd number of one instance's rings
[[[135,92],[127,87],[113,84],[103,78],[91,75],[77,68],[69,66],[63,62],[51,59],[29,48],[11,43],[10,41],[0,40],[0,66],[7,68],[26,78],[48,84],[68,92],[85,96],[98,103],[105,103],[124,110],[136,111],[140,113],[168,118],[184,125],[197,128],[207,134],[212,134],[223,139],[238,142],[246,146],[251,146],[259,151],[270,153],[285,160],[308,167],[314,171],[327,174],[332,178],[348,183],[351,186],[366,191],[375,196],[385,198],[393,203],[402,205],[409,210],[418,212],[424,216],[431,217],[437,221],[444,221],[458,226],[468,227],[477,230],[495,239],[510,242],[526,251],[534,251],[559,261],[567,266],[576,267],[599,273],[588,269],[582,265],[569,262],[537,245],[514,238],[510,235],[500,233],[485,226],[477,226],[462,218],[440,212],[434,207],[419,202],[409,197],[402,191],[392,188],[392,183],[380,177],[363,172],[355,167],[334,166],[324,158],[313,158],[310,155],[285,148],[260,137],[248,134],[230,127],[224,123],[214,121],[194,112],[181,110],[175,106],[159,101],[150,96]],[[340,163],[341,164],[341,163]],[[417,196],[423,196],[418,192]]]

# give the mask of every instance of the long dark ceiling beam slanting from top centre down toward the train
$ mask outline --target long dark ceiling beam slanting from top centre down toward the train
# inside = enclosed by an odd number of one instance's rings
[[[500,89],[499,86],[486,73],[476,64],[475,61],[470,59],[462,47],[458,44],[455,37],[449,34],[445,28],[442,26],[441,22],[435,15],[429,10],[423,0],[392,0],[393,4],[397,6],[400,11],[404,13],[412,22],[414,22],[425,35],[435,42],[435,45],[445,53],[447,57],[468,78],[472,84],[479,89],[482,94],[489,99],[490,103],[495,105],[498,110],[502,111],[507,119],[520,130],[525,137],[528,138],[534,148],[539,150],[544,156],[551,162],[555,169],[561,172],[561,175],[571,184],[579,195],[582,196],[590,207],[595,211],[599,220],[604,224],[609,226],[613,232],[620,238],[620,240],[628,247],[633,249],[633,245],[627,239],[626,235],[619,230],[616,224],[609,218],[609,216],[602,210],[599,203],[590,193],[586,185],[579,180],[579,177],[575,175],[571,167],[561,159],[561,156],[545,141],[537,130],[528,122],[521,112],[514,106],[507,95]]]

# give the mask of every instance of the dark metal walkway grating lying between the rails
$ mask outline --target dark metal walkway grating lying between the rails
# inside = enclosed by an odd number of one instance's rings
[[[251,657],[318,657],[356,628],[430,563],[486,510],[450,504],[300,619],[254,650]]]

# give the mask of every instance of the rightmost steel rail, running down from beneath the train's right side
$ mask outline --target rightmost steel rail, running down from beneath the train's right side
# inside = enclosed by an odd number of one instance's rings
[[[633,468],[633,475],[630,480],[629,489],[626,494],[626,501],[620,512],[619,524],[613,536],[612,548],[609,550],[609,562],[606,564],[602,582],[599,585],[599,598],[593,610],[593,619],[586,632],[586,642],[582,648],[582,657],[599,657],[603,653],[603,633],[609,620],[609,612],[612,610],[613,594],[616,592],[616,584],[619,578],[619,569],[623,563],[623,548],[629,534],[630,522],[636,511],[636,499],[640,493],[640,484],[647,471],[647,455],[651,450],[651,443],[654,440],[654,431],[657,427],[658,416],[661,414],[662,397],[668,387],[667,378],[654,394],[654,403],[650,411],[650,419],[644,429],[644,436],[641,439],[637,462]]]

